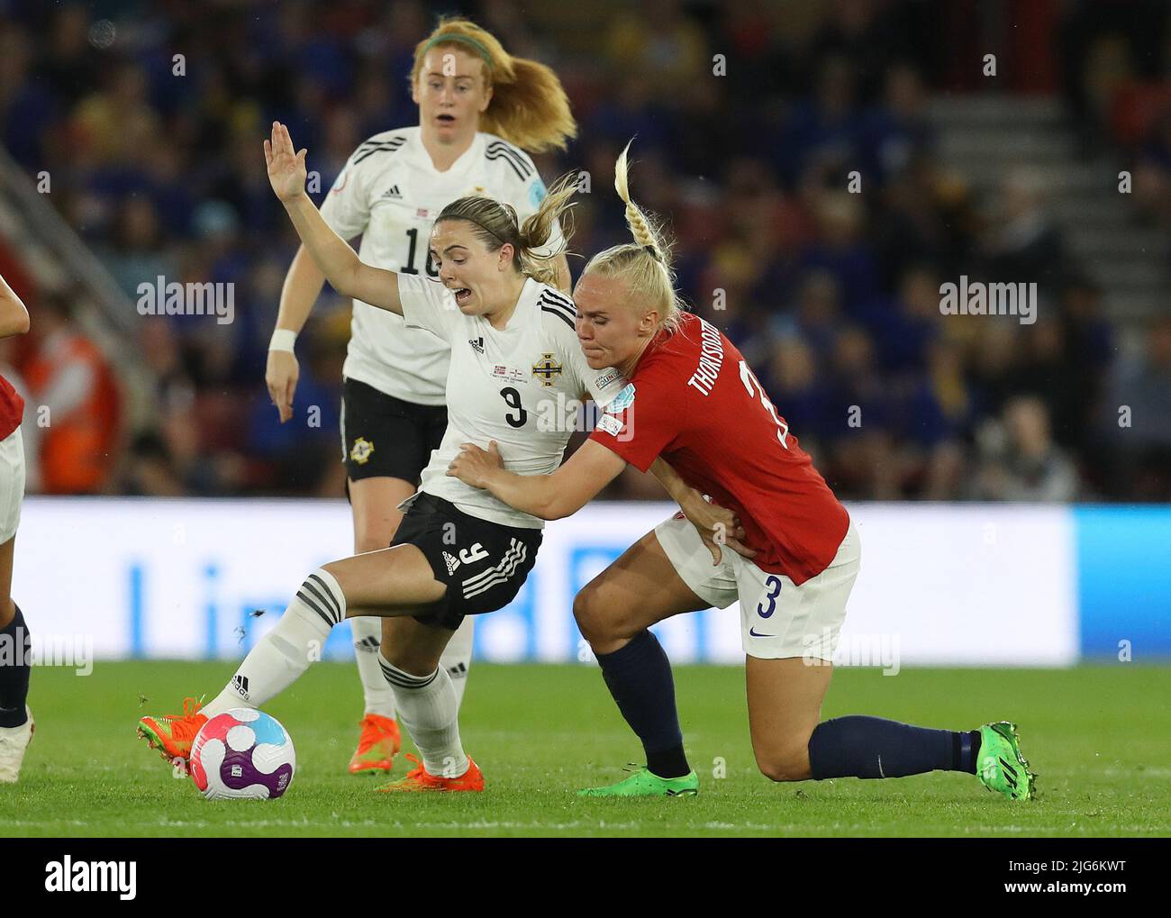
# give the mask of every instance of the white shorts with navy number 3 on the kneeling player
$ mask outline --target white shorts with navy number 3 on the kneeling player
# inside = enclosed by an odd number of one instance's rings
[[[713,564],[696,527],[678,515],[656,526],[655,535],[680,580],[700,600],[717,609],[740,601],[740,632],[749,657],[834,658],[845,601],[862,562],[854,520],[829,567],[800,587],[727,547],[721,562]]]

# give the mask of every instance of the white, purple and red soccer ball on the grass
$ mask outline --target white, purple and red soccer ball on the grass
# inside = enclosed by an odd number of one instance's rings
[[[196,734],[189,768],[208,800],[275,800],[293,782],[296,752],[275,718],[234,707]]]

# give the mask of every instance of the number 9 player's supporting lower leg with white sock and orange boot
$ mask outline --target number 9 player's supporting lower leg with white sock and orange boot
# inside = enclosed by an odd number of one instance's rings
[[[451,673],[440,664],[454,633],[411,617],[383,619],[382,671],[395,686],[399,718],[423,761],[409,755],[418,767],[379,790],[484,789],[484,776],[459,739],[459,704]]]

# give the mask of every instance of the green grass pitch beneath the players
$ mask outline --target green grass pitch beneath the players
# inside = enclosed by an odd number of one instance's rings
[[[0,786],[0,836],[1100,836],[1171,834],[1171,667],[838,670],[823,715],[867,713],[972,728],[1020,726],[1041,797],[1012,803],[972,775],[774,785],[748,742],[741,667],[676,671],[694,799],[594,800],[639,747],[594,666],[482,665],[463,735],[484,794],[386,795],[345,763],[361,696],[352,665],[315,665],[266,706],[293,735],[297,772],[278,801],[204,801],[136,739],[144,713],[214,696],[220,663],[98,663],[91,676],[37,669],[37,720],[21,781]],[[141,697],[149,699],[141,703]],[[723,762],[725,776],[714,776]],[[395,774],[405,773],[405,760]]]

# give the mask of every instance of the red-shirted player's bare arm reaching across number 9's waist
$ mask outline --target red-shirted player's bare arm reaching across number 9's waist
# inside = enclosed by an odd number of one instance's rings
[[[586,440],[569,461],[547,475],[518,475],[500,459],[497,441],[481,450],[471,443],[447,467],[465,485],[484,488],[509,507],[542,520],[571,516],[593,500],[626,467],[626,460],[604,446]]]

